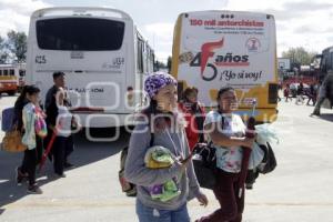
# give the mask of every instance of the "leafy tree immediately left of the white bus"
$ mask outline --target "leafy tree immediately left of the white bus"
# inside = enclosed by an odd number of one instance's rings
[[[27,34],[24,32],[16,32],[13,30],[7,33],[7,48],[17,62],[24,62],[27,54]]]

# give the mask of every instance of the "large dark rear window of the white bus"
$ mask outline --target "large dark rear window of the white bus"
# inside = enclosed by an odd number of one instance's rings
[[[36,26],[38,47],[44,50],[119,50],[124,36],[124,22],[107,19],[47,19]]]

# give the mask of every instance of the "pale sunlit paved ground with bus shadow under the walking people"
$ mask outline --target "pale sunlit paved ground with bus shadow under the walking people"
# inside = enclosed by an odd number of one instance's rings
[[[14,98],[3,97],[0,109]],[[323,110],[322,118],[311,118],[312,107],[280,103],[276,130],[280,144],[274,145],[276,170],[261,175],[254,190],[246,193],[245,222],[333,222],[333,111]],[[103,134],[112,134],[103,130]],[[1,135],[2,137],[2,135]],[[127,198],[118,183],[119,151],[129,134],[111,143],[87,141],[75,137],[72,162],[75,168],[67,178],[56,180],[50,163],[39,176],[42,195],[26,193],[17,186],[13,169],[21,154],[0,151],[0,221],[73,222],[137,221],[134,199]],[[218,208],[211,191],[208,208],[189,203],[192,219]]]

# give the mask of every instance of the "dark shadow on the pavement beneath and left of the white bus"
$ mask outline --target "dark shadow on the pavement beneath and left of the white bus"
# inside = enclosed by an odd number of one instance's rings
[[[91,134],[97,139],[104,138],[115,133],[115,129],[95,129]],[[85,138],[85,131],[74,135],[74,152],[69,157],[71,163],[77,169],[90,163],[103,160],[105,158],[118,154],[124,147],[128,145],[130,133],[123,128],[120,128],[120,138],[113,142],[91,142]],[[0,215],[6,209],[1,208],[9,203],[16,202],[26,196],[27,184],[20,186],[16,183],[14,169],[21,164],[23,153],[9,153],[0,150]],[[47,160],[41,172],[37,174],[39,185],[58,180],[53,173],[52,163]]]

